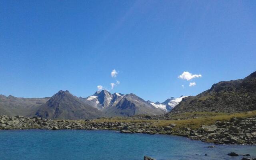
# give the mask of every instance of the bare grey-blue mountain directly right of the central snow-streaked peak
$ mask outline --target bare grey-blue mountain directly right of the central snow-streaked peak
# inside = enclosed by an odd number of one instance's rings
[[[163,110],[148,104],[148,102],[135,94],[126,94],[123,96],[116,94],[116,98],[118,98],[116,102],[113,102],[111,106],[102,110],[106,116],[157,115],[165,113]]]

